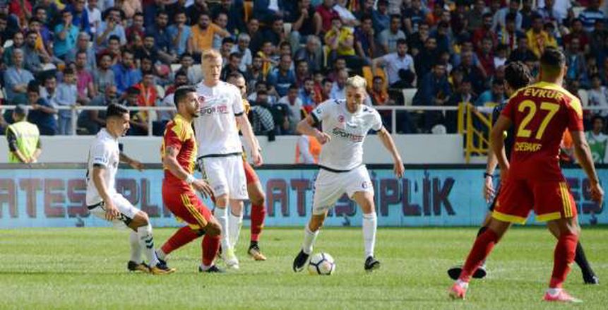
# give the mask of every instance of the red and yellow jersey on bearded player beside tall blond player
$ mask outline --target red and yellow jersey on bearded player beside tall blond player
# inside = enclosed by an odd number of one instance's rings
[[[194,138],[194,130],[192,124],[186,121],[184,117],[177,114],[172,121],[169,121],[165,128],[165,135],[162,137],[162,146],[160,148],[160,156],[165,159],[165,150],[167,148],[175,148],[179,151],[177,154],[177,162],[189,174],[194,172],[194,163],[196,162],[196,139]],[[172,181],[182,181],[177,179],[167,167],[165,169],[165,179]]]

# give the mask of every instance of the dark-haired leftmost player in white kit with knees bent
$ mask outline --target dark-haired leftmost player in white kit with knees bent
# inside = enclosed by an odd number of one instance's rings
[[[88,155],[86,203],[91,214],[108,220],[114,227],[131,228],[131,260],[127,269],[163,275],[175,271],[158,261],[154,253],[152,225],[148,214],[133,207],[121,194],[117,193],[114,182],[119,162],[141,170],[143,165],[132,160],[119,150],[118,138],[129,130],[129,110],[122,105],[109,105],[106,112],[106,128],[101,129]],[[141,260],[145,254],[149,265]]]

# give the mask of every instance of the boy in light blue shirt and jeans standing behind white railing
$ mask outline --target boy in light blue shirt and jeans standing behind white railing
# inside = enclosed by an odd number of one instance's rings
[[[59,106],[72,108],[76,106],[78,89],[76,88],[76,74],[71,68],[64,70],[64,81],[57,85],[54,99]],[[58,133],[60,135],[71,135],[73,133],[71,109],[60,109],[58,115]]]

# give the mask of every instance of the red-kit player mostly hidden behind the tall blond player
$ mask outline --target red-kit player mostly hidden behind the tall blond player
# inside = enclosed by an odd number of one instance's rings
[[[233,73],[228,76],[227,82],[237,86],[237,88],[241,90],[245,114],[249,114],[251,105],[249,105],[249,102],[245,99],[247,93],[245,78],[241,73]],[[243,152],[243,154],[246,153]],[[264,195],[264,190],[262,189],[258,174],[256,174],[254,167],[249,165],[246,157],[243,157],[243,167],[247,179],[247,193],[249,194],[249,200],[251,201],[251,239],[247,253],[256,261],[266,261],[266,256],[262,254],[260,246],[258,245],[260,234],[264,227],[264,218],[266,217],[266,195]]]

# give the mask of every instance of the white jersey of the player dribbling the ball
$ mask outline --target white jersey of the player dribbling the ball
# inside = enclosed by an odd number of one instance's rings
[[[331,137],[321,147],[318,165],[334,170],[347,171],[362,165],[365,136],[370,129],[382,129],[376,109],[362,105],[359,111],[351,114],[346,108],[346,100],[323,102],[311,116],[322,122],[323,132]]]

